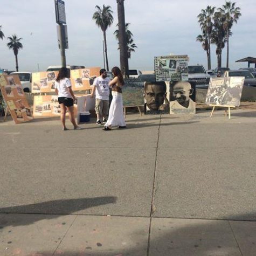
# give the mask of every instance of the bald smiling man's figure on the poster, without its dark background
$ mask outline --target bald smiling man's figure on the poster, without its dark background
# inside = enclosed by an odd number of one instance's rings
[[[194,113],[196,103],[190,99],[193,94],[193,89],[189,82],[179,81],[174,85],[172,95],[176,100],[170,101],[170,113],[176,113],[177,109],[186,109],[186,112]]]

